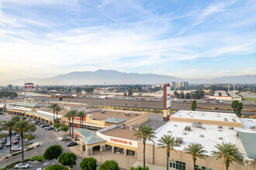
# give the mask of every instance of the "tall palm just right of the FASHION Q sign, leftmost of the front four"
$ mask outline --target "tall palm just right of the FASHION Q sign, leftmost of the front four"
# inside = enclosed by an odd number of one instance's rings
[[[156,138],[154,136],[154,131],[150,126],[146,126],[146,125],[140,125],[140,127],[138,128],[138,130],[133,134],[134,136],[137,136],[137,139],[142,140],[143,141],[143,166],[145,168],[145,145],[146,145],[146,141],[153,141],[154,142],[154,138]]]

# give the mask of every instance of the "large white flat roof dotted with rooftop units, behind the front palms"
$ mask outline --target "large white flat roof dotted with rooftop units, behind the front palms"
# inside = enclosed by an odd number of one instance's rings
[[[185,127],[190,126],[191,131],[185,131]],[[222,142],[231,142],[239,148],[240,152],[247,158],[243,145],[237,138],[237,130],[230,130],[229,127],[218,128],[217,125],[202,124],[202,128],[192,127],[192,123],[169,121],[161,128],[155,131],[157,137],[154,141],[159,140],[164,134],[171,134],[175,138],[183,138],[182,145],[175,147],[176,150],[182,151],[187,145],[192,142],[199,143],[207,151],[206,155],[211,155],[211,151],[217,151],[215,146]],[[213,135],[214,134],[214,135]],[[152,143],[147,141],[147,143]],[[157,143],[157,142],[156,142]]]

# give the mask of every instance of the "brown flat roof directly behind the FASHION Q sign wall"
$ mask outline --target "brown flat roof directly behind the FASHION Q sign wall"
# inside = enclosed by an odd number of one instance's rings
[[[136,128],[134,130],[130,130],[130,127],[124,127],[124,128],[114,128],[109,131],[104,131],[102,134],[107,136],[112,136],[116,138],[124,138],[129,139],[133,141],[138,141],[136,136],[133,136],[135,133]]]

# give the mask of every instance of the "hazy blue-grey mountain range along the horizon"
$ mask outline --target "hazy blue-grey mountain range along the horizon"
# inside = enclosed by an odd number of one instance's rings
[[[43,85],[87,85],[87,84],[164,84],[171,81],[188,81],[189,83],[256,83],[256,75],[245,76],[222,76],[210,80],[193,79],[184,80],[175,76],[164,76],[157,74],[122,73],[115,70],[97,70],[71,72],[51,78],[27,78],[2,82],[3,85],[12,83],[23,85],[24,81]]]

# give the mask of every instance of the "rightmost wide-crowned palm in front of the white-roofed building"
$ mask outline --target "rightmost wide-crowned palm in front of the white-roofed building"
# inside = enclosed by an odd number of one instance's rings
[[[226,170],[228,170],[230,163],[233,164],[233,162],[237,162],[239,165],[244,165],[244,156],[240,153],[236,145],[229,142],[228,144],[218,144],[215,147],[218,151],[212,151],[212,155],[215,156],[216,159],[224,159]]]

